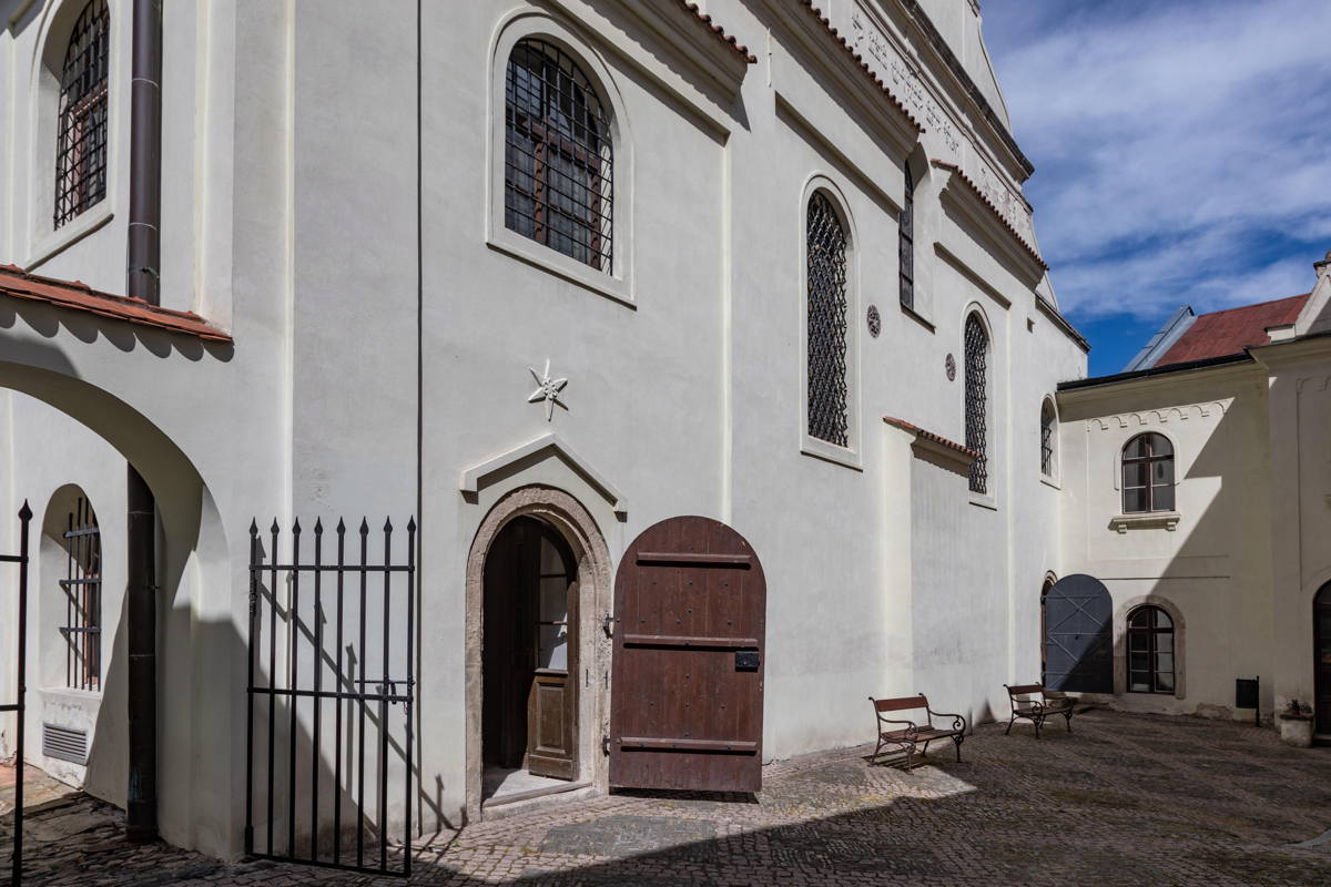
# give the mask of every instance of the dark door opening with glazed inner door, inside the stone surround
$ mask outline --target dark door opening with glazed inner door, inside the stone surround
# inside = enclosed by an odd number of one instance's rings
[[[483,797],[556,790],[578,775],[578,563],[563,536],[515,517],[486,555]]]

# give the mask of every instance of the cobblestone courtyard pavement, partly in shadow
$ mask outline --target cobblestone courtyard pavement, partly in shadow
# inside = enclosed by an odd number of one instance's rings
[[[1091,711],[1073,729],[982,725],[965,762],[940,749],[910,773],[862,749],[800,758],[756,798],[615,794],[484,822],[418,847],[413,883],[1331,884],[1331,839],[1311,840],[1331,828],[1331,749],[1194,718]],[[29,822],[31,884],[402,883],[129,847],[81,795]]]

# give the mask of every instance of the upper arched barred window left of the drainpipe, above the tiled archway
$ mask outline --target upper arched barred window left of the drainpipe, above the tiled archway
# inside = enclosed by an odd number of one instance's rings
[[[56,209],[60,227],[106,195],[106,66],[110,13],[92,0],[79,15],[60,73]]]

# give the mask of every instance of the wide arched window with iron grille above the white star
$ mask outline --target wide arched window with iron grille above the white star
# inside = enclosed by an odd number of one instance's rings
[[[587,74],[559,47],[528,39],[512,48],[504,133],[504,226],[610,273],[610,118]]]

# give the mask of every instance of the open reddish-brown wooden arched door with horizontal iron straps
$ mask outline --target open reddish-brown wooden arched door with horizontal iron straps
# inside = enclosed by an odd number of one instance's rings
[[[707,517],[643,531],[615,614],[610,783],[761,789],[767,585],[744,537]]]

